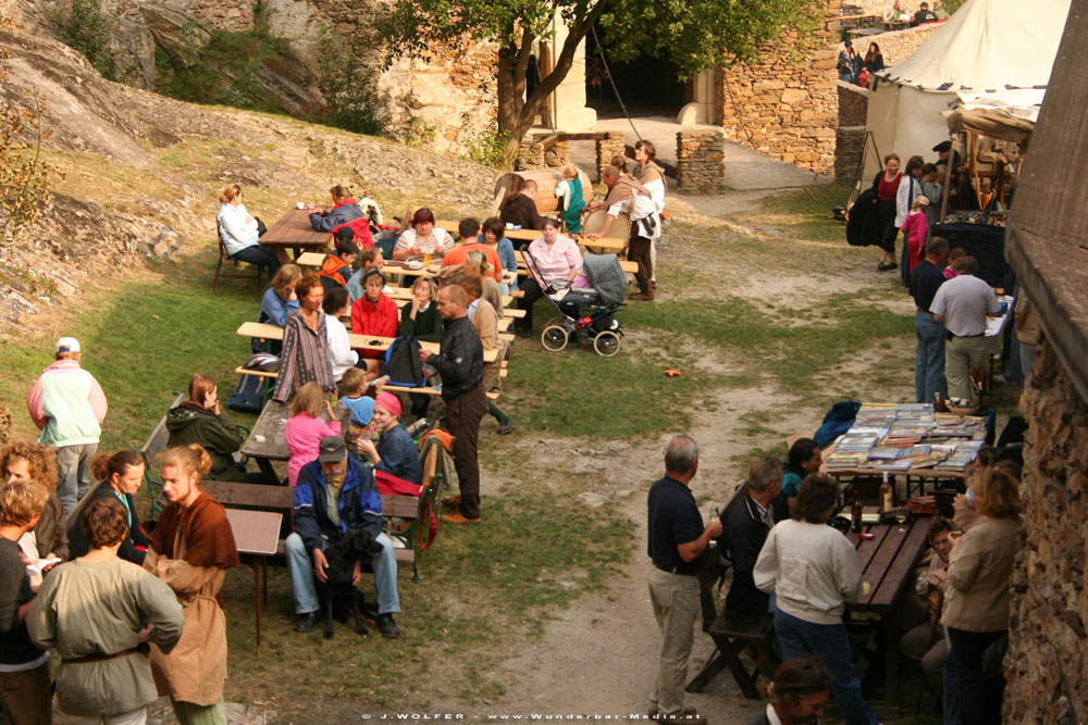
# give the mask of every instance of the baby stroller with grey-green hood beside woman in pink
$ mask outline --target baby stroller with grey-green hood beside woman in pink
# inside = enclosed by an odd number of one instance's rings
[[[526,264],[537,272],[535,261],[527,250]],[[616,311],[623,307],[627,276],[615,254],[585,254],[583,270],[592,289],[580,287],[545,290],[547,303],[561,316],[553,317],[541,333],[541,343],[557,352],[573,338],[593,341],[597,354],[610,358],[619,352],[623,327]],[[540,275],[542,276],[542,275]]]

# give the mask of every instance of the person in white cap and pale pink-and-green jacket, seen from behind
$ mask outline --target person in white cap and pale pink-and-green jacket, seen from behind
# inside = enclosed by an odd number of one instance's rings
[[[30,418],[41,430],[38,442],[57,449],[57,497],[64,513],[90,489],[87,470],[109,409],[102,386],[79,366],[82,357],[79,340],[57,340],[55,362],[41,373],[26,399]]]

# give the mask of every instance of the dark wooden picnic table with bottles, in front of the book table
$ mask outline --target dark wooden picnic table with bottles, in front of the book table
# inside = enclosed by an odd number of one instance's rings
[[[866,508],[875,512],[876,508]],[[850,604],[851,612],[868,612],[880,617],[878,636],[885,660],[885,705],[898,714],[899,682],[899,624],[897,612],[904,596],[915,584],[914,571],[929,543],[929,524],[932,516],[912,514],[908,523],[871,524],[863,528],[873,535],[862,539],[850,533],[846,538],[857,550],[862,565],[862,582],[868,584],[868,593]],[[870,703],[873,704],[873,703]],[[875,707],[877,707],[875,704]]]

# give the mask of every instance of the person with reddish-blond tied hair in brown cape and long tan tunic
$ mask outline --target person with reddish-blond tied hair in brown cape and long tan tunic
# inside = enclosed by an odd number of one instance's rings
[[[151,643],[151,674],[169,693],[183,724],[222,723],[226,679],[226,617],[219,604],[226,570],[238,566],[238,549],[223,504],[200,488],[211,458],[200,446],[177,446],[159,458],[162,491],[170,503],[157,522],[143,525],[148,550],[144,568],[182,604],[185,627],[169,652]]]

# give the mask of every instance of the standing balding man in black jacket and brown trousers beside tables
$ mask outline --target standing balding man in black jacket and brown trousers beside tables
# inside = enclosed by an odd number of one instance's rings
[[[468,296],[457,285],[438,290],[438,314],[442,315],[442,352],[435,354],[421,348],[421,362],[434,366],[442,376],[442,399],[454,436],[454,461],[460,484],[460,496],[443,499],[458,511],[442,515],[447,524],[480,523],[480,465],[477,463],[477,440],[480,420],[487,412],[487,396],[483,389],[483,342],[466,313]]]

